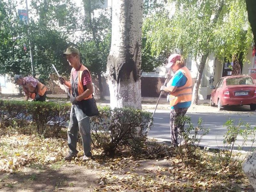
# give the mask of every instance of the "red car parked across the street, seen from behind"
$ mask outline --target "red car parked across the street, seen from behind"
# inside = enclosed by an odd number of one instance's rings
[[[250,76],[225,76],[212,88],[211,106],[250,105],[256,109],[256,84]]]

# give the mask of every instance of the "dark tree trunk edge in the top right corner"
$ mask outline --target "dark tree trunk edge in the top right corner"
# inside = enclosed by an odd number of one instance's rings
[[[246,9],[248,13],[248,20],[252,27],[252,34],[254,43],[256,43],[256,1],[255,0],[245,0]]]

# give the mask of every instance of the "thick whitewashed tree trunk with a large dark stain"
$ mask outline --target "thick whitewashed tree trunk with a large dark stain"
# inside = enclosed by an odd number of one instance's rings
[[[110,106],[141,109],[140,66],[143,0],[118,0],[112,7],[107,75]]]

